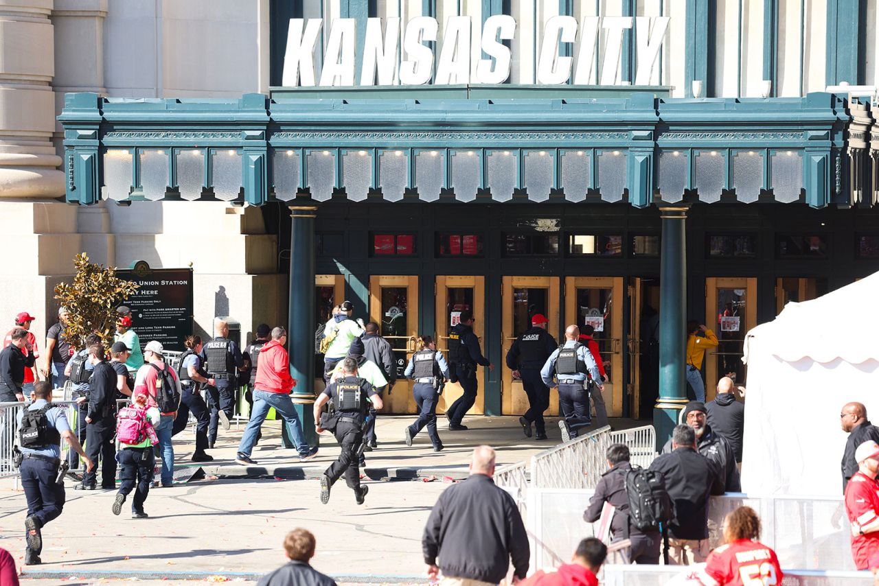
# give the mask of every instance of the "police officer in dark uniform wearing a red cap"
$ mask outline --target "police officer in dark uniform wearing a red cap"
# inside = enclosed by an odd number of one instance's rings
[[[543,384],[541,367],[558,347],[556,338],[547,331],[548,322],[545,315],[534,314],[531,328],[516,338],[506,353],[507,367],[512,370],[513,377],[522,380],[522,387],[528,396],[528,410],[519,417],[527,438],[531,437],[531,423],[534,423],[537,439],[547,438],[543,412],[549,408],[549,387]]]

